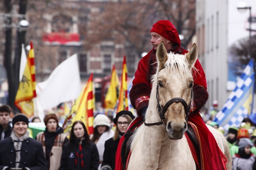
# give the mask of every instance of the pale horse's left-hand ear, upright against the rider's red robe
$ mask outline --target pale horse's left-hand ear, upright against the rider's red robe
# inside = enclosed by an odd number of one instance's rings
[[[168,58],[165,44],[163,43],[163,41],[161,41],[157,46],[156,58],[159,66],[158,71],[160,71],[163,68],[163,66],[165,66],[165,62],[167,61]]]

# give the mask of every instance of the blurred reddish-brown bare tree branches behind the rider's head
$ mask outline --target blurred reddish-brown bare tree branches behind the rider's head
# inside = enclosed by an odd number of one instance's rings
[[[150,29],[160,19],[174,24],[178,33],[185,37],[182,45],[187,47],[195,34],[195,0],[109,2],[99,15],[92,16],[86,40],[87,43],[126,40],[140,55],[151,48]]]

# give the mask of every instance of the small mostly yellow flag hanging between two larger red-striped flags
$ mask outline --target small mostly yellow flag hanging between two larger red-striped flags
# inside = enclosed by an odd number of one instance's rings
[[[104,107],[106,109],[113,109],[116,106],[119,91],[119,79],[116,74],[115,65],[113,65],[110,86],[106,93]]]

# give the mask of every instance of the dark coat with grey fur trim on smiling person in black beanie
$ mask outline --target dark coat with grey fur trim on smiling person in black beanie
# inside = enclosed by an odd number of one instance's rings
[[[23,138],[25,135],[26,138]],[[10,137],[0,141],[0,169],[15,168],[15,164],[19,164],[19,168],[30,170],[47,169],[42,144],[30,138],[28,133],[25,135],[18,141],[14,138],[13,131]],[[20,143],[20,149],[15,150],[14,144],[19,147]],[[19,161],[16,162],[17,160]]]

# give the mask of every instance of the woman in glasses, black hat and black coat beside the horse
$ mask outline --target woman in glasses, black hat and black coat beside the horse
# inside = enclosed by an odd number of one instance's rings
[[[134,118],[135,117],[132,112],[127,110],[122,110],[116,114],[116,117],[113,119],[113,122],[116,125],[114,137],[106,140],[105,142],[101,170],[115,169],[115,156],[119,140],[124,135],[129,124]]]

